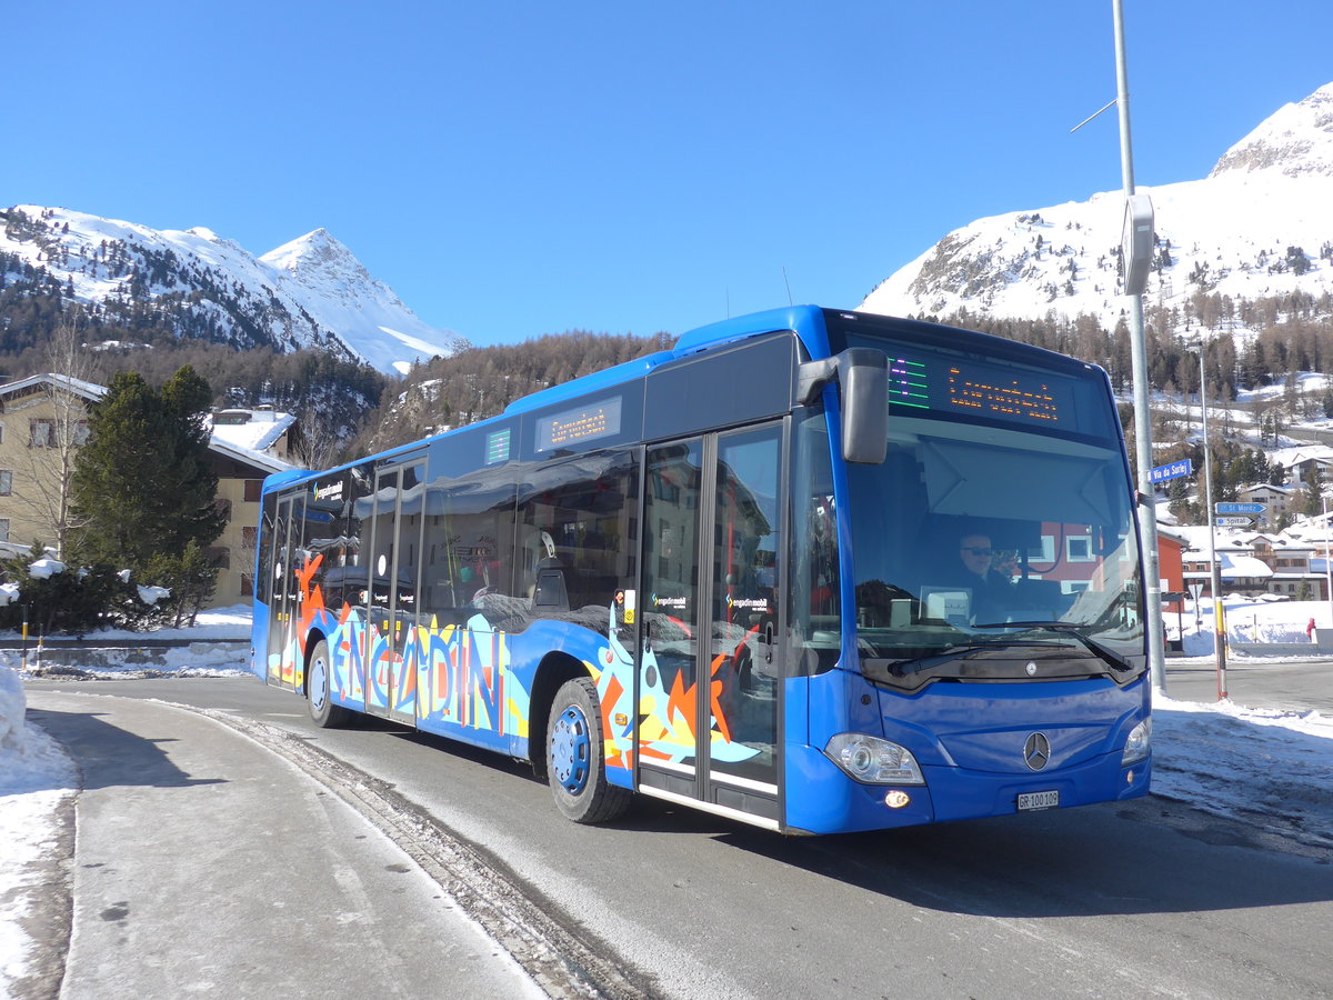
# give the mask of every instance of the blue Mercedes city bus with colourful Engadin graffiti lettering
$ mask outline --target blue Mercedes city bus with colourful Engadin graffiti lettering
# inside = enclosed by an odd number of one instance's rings
[[[1145,795],[1141,540],[1102,369],[792,307],[264,484],[252,668],[782,833]]]

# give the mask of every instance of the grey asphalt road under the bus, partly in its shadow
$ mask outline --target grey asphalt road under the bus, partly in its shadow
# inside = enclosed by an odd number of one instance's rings
[[[69,688],[31,687],[47,685]],[[257,680],[77,688],[300,735],[663,997],[1326,997],[1333,983],[1329,852],[1152,797],[818,839],[645,800],[587,828],[520,764],[380,723],[319,731]]]

